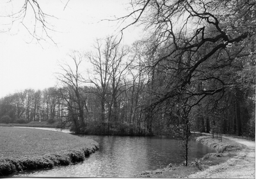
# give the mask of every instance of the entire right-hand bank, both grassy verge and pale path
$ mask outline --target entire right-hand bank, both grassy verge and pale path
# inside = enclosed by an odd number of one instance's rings
[[[235,136],[212,139],[209,134],[196,139],[216,150],[189,166],[170,164],[164,169],[145,171],[139,178],[255,178],[255,141]]]

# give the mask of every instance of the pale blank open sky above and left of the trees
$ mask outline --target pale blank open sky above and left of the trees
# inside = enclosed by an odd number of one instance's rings
[[[1,1],[0,11],[15,11],[20,7],[15,6],[18,1],[23,3],[20,0],[13,0],[12,4]],[[54,30],[49,31],[49,35],[56,45],[50,39],[40,43],[31,41],[32,37],[22,24],[13,24],[10,31],[1,32],[0,97],[24,89],[56,85],[54,73],[58,71],[58,61],[67,59],[72,50],[89,51],[96,38],[116,34],[116,22],[100,20],[126,15],[129,6],[129,0],[44,0],[38,3],[44,13],[56,17],[47,18]],[[31,29],[34,21],[29,15],[24,23]],[[5,30],[4,23],[1,18],[0,31]],[[123,43],[129,45],[138,37],[140,30],[130,28],[125,31]]]

